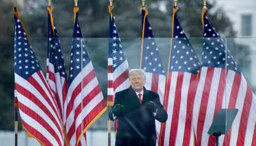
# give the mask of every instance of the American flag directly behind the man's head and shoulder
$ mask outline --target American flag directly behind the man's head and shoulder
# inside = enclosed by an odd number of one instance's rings
[[[164,103],[164,89],[165,89],[165,71],[161,58],[159,57],[159,49],[157,48],[154,35],[147,18],[147,10],[141,10],[142,14],[142,28],[144,28],[143,38],[143,55],[141,68],[146,72],[146,85],[145,88],[157,92],[160,97],[160,102]],[[144,21],[145,20],[145,21]],[[143,26],[145,25],[145,26]],[[142,30],[142,31],[143,31]],[[157,141],[159,139],[161,123],[156,120],[156,134]]]

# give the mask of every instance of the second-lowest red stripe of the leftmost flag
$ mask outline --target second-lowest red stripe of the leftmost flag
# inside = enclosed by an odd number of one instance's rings
[[[58,135],[56,134],[55,130],[50,127],[50,125],[45,122],[45,120],[40,117],[39,114],[37,114],[35,111],[31,110],[27,106],[23,105],[21,102],[19,103],[19,108],[22,111],[26,111],[25,113],[29,116],[32,117],[32,119],[36,120],[37,122],[40,123],[53,137],[55,137],[55,140],[58,142],[59,145],[61,145],[61,139],[59,139]],[[61,132],[60,132],[61,133]],[[62,134],[62,133],[61,133]]]

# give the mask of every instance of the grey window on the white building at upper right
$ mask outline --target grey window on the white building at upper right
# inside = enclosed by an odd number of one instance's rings
[[[243,36],[251,36],[252,35],[252,15],[242,15],[242,35]]]

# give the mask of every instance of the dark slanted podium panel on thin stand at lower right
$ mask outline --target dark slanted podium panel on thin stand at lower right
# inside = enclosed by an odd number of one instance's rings
[[[216,137],[216,146],[219,145],[219,136],[226,134],[238,113],[238,109],[220,109],[208,130],[208,134]]]

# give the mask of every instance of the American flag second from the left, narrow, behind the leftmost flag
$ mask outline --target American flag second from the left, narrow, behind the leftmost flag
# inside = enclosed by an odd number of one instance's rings
[[[47,82],[63,117],[63,104],[67,96],[66,68],[51,7],[48,7]]]

